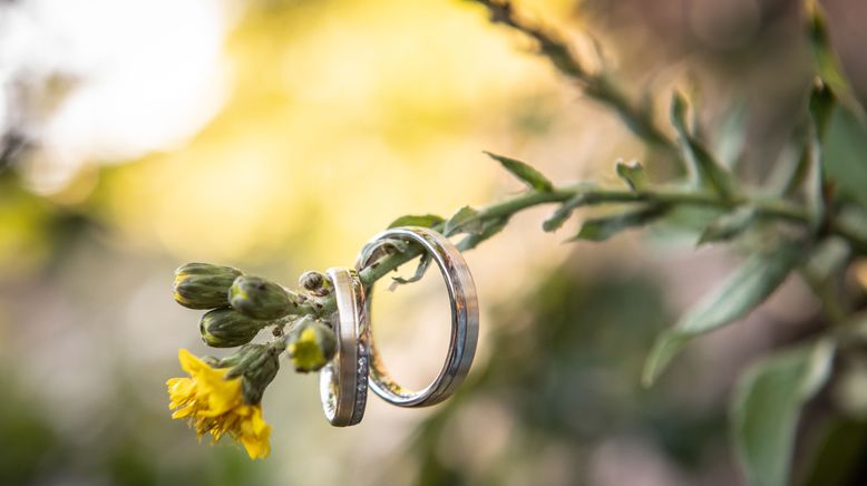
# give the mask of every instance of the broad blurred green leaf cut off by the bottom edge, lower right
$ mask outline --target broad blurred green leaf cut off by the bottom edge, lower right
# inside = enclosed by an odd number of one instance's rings
[[[830,341],[817,341],[767,358],[739,380],[730,422],[749,484],[790,484],[800,409],[828,380],[834,353]]]

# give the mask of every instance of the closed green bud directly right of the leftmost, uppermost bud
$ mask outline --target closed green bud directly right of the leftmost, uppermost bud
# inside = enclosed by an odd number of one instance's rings
[[[259,276],[242,275],[228,291],[228,302],[238,312],[253,319],[280,319],[298,311],[298,304],[285,289]]]

